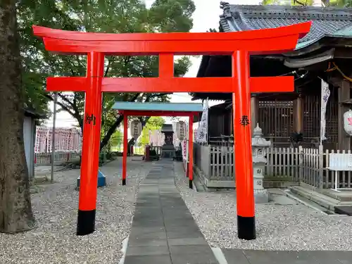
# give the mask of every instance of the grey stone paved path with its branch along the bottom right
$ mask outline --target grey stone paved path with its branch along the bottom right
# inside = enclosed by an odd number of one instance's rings
[[[352,264],[352,251],[220,252],[218,263],[175,187],[172,161],[158,161],[139,189],[124,264]]]

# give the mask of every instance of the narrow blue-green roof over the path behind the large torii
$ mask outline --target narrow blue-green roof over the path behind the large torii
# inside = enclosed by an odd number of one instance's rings
[[[117,101],[113,105],[115,110],[130,111],[182,111],[182,112],[201,112],[201,103],[139,103]]]

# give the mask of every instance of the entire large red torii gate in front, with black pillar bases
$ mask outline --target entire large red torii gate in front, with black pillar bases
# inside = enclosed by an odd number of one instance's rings
[[[255,239],[251,92],[292,92],[294,77],[250,77],[249,55],[295,48],[310,22],[275,29],[207,33],[105,34],[33,26],[46,50],[87,55],[86,77],[48,77],[48,91],[86,92],[77,235],[94,232],[101,130],[101,92],[224,92],[233,94],[237,230]],[[232,77],[174,77],[174,55],[231,55]],[[159,56],[158,77],[103,77],[104,56]]]

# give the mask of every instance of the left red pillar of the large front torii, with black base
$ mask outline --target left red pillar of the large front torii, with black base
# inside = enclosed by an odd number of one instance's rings
[[[104,55],[94,51],[87,55],[88,87],[84,105],[84,137],[82,144],[77,235],[94,232],[99,169],[101,82],[104,70]]]

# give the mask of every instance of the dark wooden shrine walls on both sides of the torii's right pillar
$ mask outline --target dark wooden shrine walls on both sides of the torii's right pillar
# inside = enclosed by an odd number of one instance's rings
[[[319,88],[319,87],[318,87]],[[303,146],[315,146],[320,142],[320,89],[314,93],[302,94],[302,133]],[[209,141],[220,140],[222,135],[233,134],[232,108],[210,108],[209,111]],[[338,102],[337,89],[331,88],[331,95],[327,101],[326,137],[324,146],[335,149],[338,135]],[[259,100],[257,122],[263,130],[263,136],[270,139],[277,146],[291,146],[291,134],[295,130],[294,100]]]

